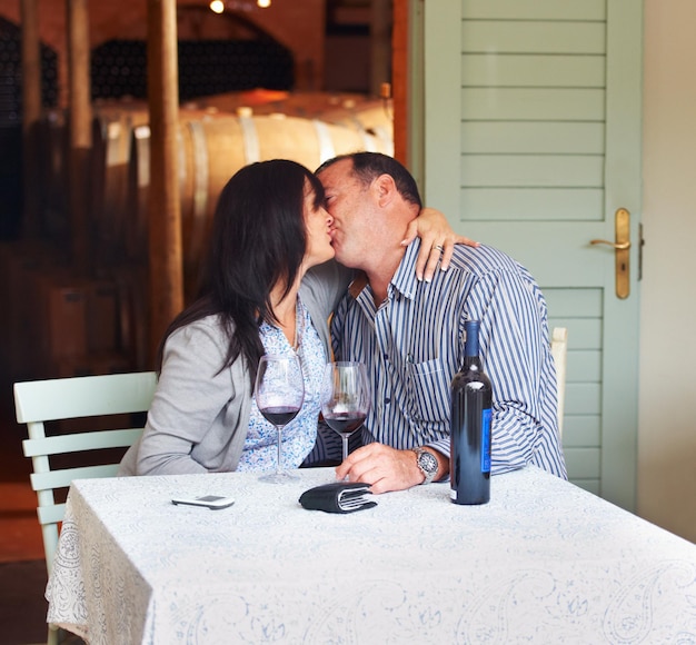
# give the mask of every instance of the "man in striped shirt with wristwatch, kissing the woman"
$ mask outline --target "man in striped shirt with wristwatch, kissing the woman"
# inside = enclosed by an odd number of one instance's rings
[[[334,316],[336,359],[367,365],[375,400],[366,445],[337,476],[374,493],[448,476],[449,386],[464,364],[464,322],[477,319],[494,388],[491,472],[534,464],[565,478],[546,302],[534,278],[496,249],[457,246],[447,271],[419,281],[420,241],[399,244],[421,207],[410,173],[390,157],[358,152],[317,176],[336,259],[365,274]]]

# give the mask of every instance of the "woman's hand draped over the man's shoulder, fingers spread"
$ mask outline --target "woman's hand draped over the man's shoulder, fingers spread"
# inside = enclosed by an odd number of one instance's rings
[[[425,278],[429,282],[435,275],[437,262],[440,262],[440,270],[446,271],[449,267],[451,254],[456,244],[469,247],[479,246],[477,241],[457,235],[447,218],[435,208],[422,208],[416,219],[414,219],[406,230],[406,238],[401,246],[408,246],[417,237],[420,238],[420,251],[416,260],[416,277],[419,280]]]

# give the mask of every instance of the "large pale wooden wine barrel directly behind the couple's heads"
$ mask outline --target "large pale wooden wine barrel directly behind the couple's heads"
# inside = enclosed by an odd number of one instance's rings
[[[310,170],[341,153],[372,150],[391,153],[377,137],[319,120],[285,116],[200,118],[179,125],[179,195],[181,202],[185,291],[189,299],[198,277],[218,196],[241,167],[268,159],[292,159]],[[147,256],[149,128],[133,130],[129,167],[128,251]]]

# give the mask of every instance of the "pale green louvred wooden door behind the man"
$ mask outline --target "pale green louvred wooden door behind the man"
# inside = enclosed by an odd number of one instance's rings
[[[569,477],[635,506],[642,2],[425,0],[415,169],[456,229],[527,266],[568,328]],[[415,31],[418,33],[418,30]],[[414,66],[418,69],[418,66]],[[418,142],[419,128],[412,128]],[[627,298],[615,212],[630,212]]]

